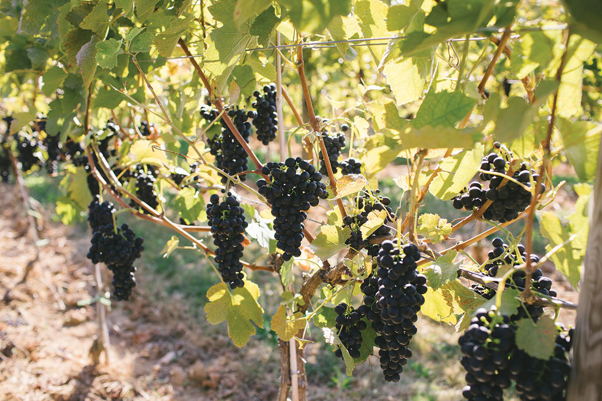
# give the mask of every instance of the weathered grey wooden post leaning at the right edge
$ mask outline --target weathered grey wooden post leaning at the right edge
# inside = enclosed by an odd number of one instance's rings
[[[592,195],[567,401],[602,400],[602,138]]]

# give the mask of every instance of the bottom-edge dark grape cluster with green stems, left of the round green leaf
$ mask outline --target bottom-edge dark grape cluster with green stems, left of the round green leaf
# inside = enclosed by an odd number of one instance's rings
[[[467,372],[462,396],[467,400],[503,401],[504,388],[512,384],[510,355],[515,348],[516,328],[507,316],[499,320],[494,313],[479,308],[458,340],[464,354],[460,363]]]

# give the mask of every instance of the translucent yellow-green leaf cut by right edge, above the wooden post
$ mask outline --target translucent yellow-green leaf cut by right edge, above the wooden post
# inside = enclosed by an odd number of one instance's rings
[[[600,147],[600,126],[590,121],[557,120],[565,153],[579,179],[591,182],[596,176]]]

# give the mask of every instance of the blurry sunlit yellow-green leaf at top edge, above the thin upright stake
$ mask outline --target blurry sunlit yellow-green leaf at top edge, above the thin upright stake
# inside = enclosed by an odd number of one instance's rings
[[[301,32],[319,34],[337,15],[351,11],[349,0],[278,0],[288,10],[293,25]]]

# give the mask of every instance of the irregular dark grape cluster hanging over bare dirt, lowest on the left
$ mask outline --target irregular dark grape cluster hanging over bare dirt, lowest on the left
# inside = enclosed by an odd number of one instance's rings
[[[98,197],[88,206],[88,221],[92,227],[92,245],[87,258],[92,263],[105,263],[113,272],[113,295],[117,301],[127,301],[136,285],[134,261],[144,250],[141,237],[127,224],[115,228],[113,204],[100,203]]]

